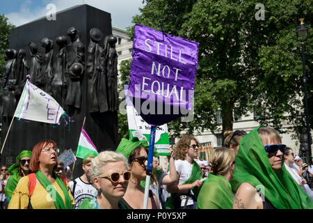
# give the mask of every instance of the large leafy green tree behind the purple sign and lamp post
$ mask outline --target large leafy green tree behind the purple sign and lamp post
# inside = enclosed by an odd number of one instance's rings
[[[259,121],[281,130],[290,123],[294,130],[303,126],[302,61],[296,42],[298,19],[312,26],[310,0],[262,1],[228,0],[148,0],[135,24],[150,26],[199,45],[195,79],[195,118],[169,123],[178,136],[182,130],[218,129],[216,114],[221,112],[222,131],[232,130],[233,110],[240,115],[259,114]],[[134,27],[129,29],[132,35]],[[312,75],[312,38],[306,41],[307,76]],[[310,83],[310,82],[309,82]],[[309,96],[312,84],[308,86]],[[288,114],[287,116],[284,114]],[[312,126],[312,125],[311,125]]]

